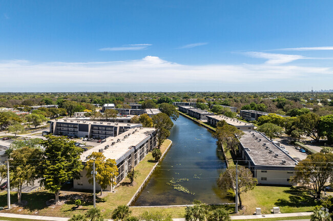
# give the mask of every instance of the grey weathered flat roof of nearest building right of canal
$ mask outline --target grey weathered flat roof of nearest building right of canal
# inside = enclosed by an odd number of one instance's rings
[[[295,167],[297,161],[258,131],[247,131],[240,142],[255,165]],[[277,154],[277,157],[275,157]]]

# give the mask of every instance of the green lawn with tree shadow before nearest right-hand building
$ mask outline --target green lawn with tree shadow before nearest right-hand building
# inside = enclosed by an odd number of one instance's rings
[[[298,187],[281,186],[256,186],[255,189],[243,193],[241,199],[245,209],[241,211],[244,215],[251,215],[256,207],[261,208],[261,213],[270,214],[275,206],[280,207],[281,213],[311,212],[317,202]]]

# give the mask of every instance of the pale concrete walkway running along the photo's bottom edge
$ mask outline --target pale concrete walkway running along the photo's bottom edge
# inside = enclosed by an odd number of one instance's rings
[[[239,215],[231,216],[231,219],[257,219],[257,218],[281,218],[283,217],[300,217],[311,215],[312,212],[295,212],[295,213],[279,213],[279,214],[266,214],[266,215]],[[66,217],[51,217],[51,216],[38,216],[38,215],[23,215],[14,213],[0,213],[0,217],[11,217],[11,218],[25,218],[25,219],[37,219],[37,220],[51,220],[51,221],[67,221],[69,218]],[[107,219],[112,221],[112,219]],[[185,218],[174,218],[174,221],[185,221]],[[303,219],[301,219],[303,220]],[[297,220],[297,221],[301,221]],[[305,221],[307,219],[304,219]]]

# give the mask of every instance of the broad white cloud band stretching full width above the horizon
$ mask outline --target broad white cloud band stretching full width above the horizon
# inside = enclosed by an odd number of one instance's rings
[[[274,59],[273,59],[274,60]],[[278,59],[277,59],[278,60]],[[297,80],[321,75],[333,76],[331,67],[302,67],[296,65],[240,64],[240,65],[182,65],[147,56],[140,60],[111,62],[45,62],[2,61],[2,85],[10,88],[37,88],[38,85],[98,85],[98,84],[187,84],[244,83],[258,81]],[[13,81],[15,76],[15,81]],[[70,90],[71,88],[68,88]],[[148,88],[142,88],[147,90]],[[0,89],[1,90],[1,89]],[[90,88],[82,88],[91,91]],[[30,90],[31,91],[31,90]]]

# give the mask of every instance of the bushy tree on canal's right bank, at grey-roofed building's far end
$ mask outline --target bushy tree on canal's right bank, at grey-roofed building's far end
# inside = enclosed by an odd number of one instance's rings
[[[235,126],[228,125],[225,120],[221,120],[217,124],[216,131],[212,134],[217,139],[217,145],[225,150],[236,151],[238,149],[239,138],[244,133]]]

